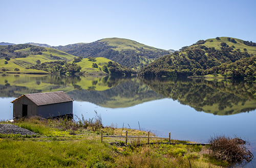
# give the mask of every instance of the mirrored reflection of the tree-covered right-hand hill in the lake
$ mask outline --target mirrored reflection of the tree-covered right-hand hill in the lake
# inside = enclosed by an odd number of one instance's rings
[[[142,79],[155,92],[214,115],[256,109],[256,83],[205,79]]]

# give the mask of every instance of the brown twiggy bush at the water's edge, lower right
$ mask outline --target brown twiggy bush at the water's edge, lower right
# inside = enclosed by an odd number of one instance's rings
[[[211,155],[231,164],[250,162],[253,154],[245,147],[246,141],[238,137],[214,136],[209,139]]]

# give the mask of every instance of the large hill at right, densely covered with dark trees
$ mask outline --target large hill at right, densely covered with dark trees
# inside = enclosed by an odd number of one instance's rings
[[[256,43],[243,41],[240,39],[221,37],[208,40],[199,40],[191,46],[182,47],[179,51],[171,55],[156,60],[150,65],[140,70],[141,76],[191,76],[207,75],[213,70],[210,68],[221,66],[222,64],[236,64],[237,70],[241,69],[241,63],[248,62],[247,58],[256,56]],[[239,62],[239,60],[241,60]],[[237,62],[238,61],[238,62]],[[250,61],[250,65],[242,67],[243,72],[239,75],[231,72],[233,68],[226,71],[214,72],[223,77],[245,77],[255,75],[255,64]],[[236,69],[235,68],[235,69]],[[250,73],[247,73],[250,72]]]

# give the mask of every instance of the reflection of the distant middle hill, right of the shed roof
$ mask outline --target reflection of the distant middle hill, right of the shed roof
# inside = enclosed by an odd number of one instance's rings
[[[73,90],[67,93],[77,101],[88,101],[110,107],[130,107],[143,102],[164,98],[133,78],[105,91]]]

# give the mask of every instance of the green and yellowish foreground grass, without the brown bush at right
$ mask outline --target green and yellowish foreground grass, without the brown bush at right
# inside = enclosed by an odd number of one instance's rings
[[[25,119],[16,125],[37,132],[37,137],[0,138],[1,167],[221,167],[207,154],[207,147],[188,145],[119,146],[113,139],[100,142],[98,130],[86,120]],[[5,123],[5,122],[2,122]],[[83,123],[83,124],[82,124]],[[92,122],[95,123],[95,122]],[[104,134],[122,130],[104,127]],[[129,130],[134,135],[144,131]],[[119,142],[121,142],[119,140]],[[225,161],[220,161],[225,165]]]

